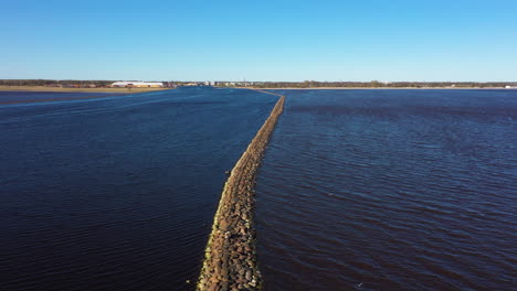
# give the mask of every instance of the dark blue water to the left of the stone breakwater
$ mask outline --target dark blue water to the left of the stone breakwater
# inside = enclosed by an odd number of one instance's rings
[[[182,88],[1,105],[0,290],[192,290],[224,171],[276,99]]]

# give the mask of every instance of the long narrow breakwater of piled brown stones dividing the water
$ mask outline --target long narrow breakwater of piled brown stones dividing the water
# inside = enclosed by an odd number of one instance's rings
[[[253,222],[255,174],[284,109],[285,97],[257,91],[281,98],[224,184],[198,280],[199,291],[262,289]]]

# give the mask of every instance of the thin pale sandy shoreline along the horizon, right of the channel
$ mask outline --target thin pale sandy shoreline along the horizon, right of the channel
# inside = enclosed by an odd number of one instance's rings
[[[222,87],[224,88],[224,87]],[[507,89],[505,87],[310,87],[310,88],[296,88],[296,87],[285,87],[285,88],[261,88],[261,87],[228,87],[228,88],[239,88],[239,89],[261,89],[261,90],[397,90],[397,89],[413,89],[413,90],[467,90],[467,89]]]

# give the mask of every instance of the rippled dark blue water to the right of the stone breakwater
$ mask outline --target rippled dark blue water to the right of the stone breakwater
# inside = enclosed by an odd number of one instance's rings
[[[515,290],[516,90],[276,90],[266,290]]]

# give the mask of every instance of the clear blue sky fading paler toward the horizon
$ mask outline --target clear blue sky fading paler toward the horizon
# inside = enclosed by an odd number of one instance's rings
[[[516,0],[0,0],[0,78],[516,82]]]

